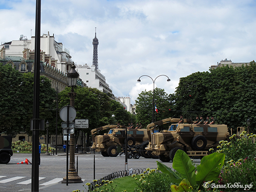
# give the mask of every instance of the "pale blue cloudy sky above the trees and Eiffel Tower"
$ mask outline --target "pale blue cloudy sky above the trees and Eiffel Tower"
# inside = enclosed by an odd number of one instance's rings
[[[36,0],[0,0],[0,41],[35,35]],[[255,0],[42,0],[41,35],[70,50],[76,64],[91,66],[97,28],[99,70],[115,96],[163,88],[209,70],[227,58],[255,60]],[[32,29],[32,31],[31,31]],[[86,79],[83,79],[86,81]]]

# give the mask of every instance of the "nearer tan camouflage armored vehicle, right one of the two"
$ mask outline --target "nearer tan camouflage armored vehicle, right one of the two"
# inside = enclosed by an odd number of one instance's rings
[[[178,119],[179,120],[179,119]],[[147,126],[148,134],[154,128],[166,123],[177,122],[175,118],[163,119]],[[158,155],[163,162],[172,161],[178,149],[189,156],[205,156],[209,148],[217,147],[218,142],[229,138],[227,125],[193,125],[189,120],[184,124],[172,124],[168,130],[151,133],[146,150]]]

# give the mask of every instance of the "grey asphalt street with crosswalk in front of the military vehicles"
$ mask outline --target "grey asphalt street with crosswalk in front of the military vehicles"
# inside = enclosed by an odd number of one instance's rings
[[[76,154],[78,157],[78,175],[83,183],[61,183],[66,176],[66,155],[41,154],[39,166],[39,191],[40,192],[72,192],[73,190],[86,191],[84,186],[93,181],[93,160],[95,155],[95,179],[100,179],[113,172],[125,169],[125,156],[103,157],[101,154]],[[0,192],[31,192],[32,166],[17,164],[25,159],[32,162],[32,154],[15,153],[8,164],[0,164]],[[158,159],[128,159],[128,169],[156,168]],[[172,167],[171,162],[164,163]],[[75,165],[76,166],[76,165]],[[83,186],[84,185],[84,186]]]

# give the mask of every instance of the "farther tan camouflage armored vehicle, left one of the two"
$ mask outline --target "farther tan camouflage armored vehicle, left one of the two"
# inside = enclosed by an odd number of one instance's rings
[[[120,125],[120,128],[116,128],[116,126],[117,125],[105,125],[103,127],[91,130],[93,137],[93,146],[91,148],[95,149],[95,151],[100,151],[104,157],[116,157],[119,154],[117,148],[122,150],[123,145],[125,145],[125,127]],[[99,131],[108,128],[111,128],[108,131],[108,134],[105,133],[104,135],[95,136],[95,134]],[[143,142],[148,142],[148,134],[146,129],[127,129],[127,143],[129,146],[136,146],[142,144]]]

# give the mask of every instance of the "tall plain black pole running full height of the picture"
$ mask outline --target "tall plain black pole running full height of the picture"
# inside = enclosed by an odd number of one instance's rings
[[[40,31],[41,31],[41,0],[36,1],[35,9],[35,74],[32,126],[32,183],[31,191],[39,191],[39,94],[40,94]]]

